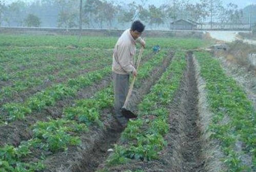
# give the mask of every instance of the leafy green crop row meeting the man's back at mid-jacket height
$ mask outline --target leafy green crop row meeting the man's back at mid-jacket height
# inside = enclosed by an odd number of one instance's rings
[[[100,68],[102,65],[110,63],[111,58],[106,58],[106,56],[107,55],[104,53],[101,55],[97,54],[97,56],[91,55],[84,59],[80,58],[73,65],[65,62],[60,62],[58,65],[47,65],[45,69],[41,70],[44,71],[45,74],[43,72],[40,76],[36,75],[37,69],[28,70],[26,72],[17,72],[15,75],[21,74],[23,77],[21,79],[11,79],[11,85],[3,87],[0,90],[0,100],[11,98],[14,95],[21,94],[21,92],[28,89],[31,90],[38,86],[42,87],[44,83],[48,83],[49,81],[56,82],[58,79],[60,79],[60,77],[66,78],[70,75],[76,74],[79,71],[88,70],[90,68]],[[108,56],[111,57],[110,54],[108,54]],[[95,58],[97,58],[96,62],[94,62]],[[75,61],[75,58],[73,60]],[[89,62],[90,60],[92,60],[92,62]],[[93,63],[95,63],[95,65],[92,65]],[[58,70],[58,72],[56,73],[55,70]]]

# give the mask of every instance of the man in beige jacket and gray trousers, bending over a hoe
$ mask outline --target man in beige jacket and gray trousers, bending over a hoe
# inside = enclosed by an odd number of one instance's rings
[[[128,121],[128,119],[122,115],[121,109],[129,89],[129,74],[132,73],[133,76],[137,76],[137,71],[133,65],[135,42],[140,42],[140,44],[145,47],[146,42],[140,37],[144,29],[145,26],[139,20],[136,20],[132,23],[130,29],[124,31],[114,47],[112,72],[115,118],[123,127]]]

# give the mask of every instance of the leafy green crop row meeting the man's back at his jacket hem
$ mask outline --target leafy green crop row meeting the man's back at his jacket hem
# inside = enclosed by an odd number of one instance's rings
[[[105,67],[101,70],[88,72],[77,78],[69,79],[67,83],[54,84],[50,88],[29,97],[24,103],[6,103],[2,107],[2,111],[7,113],[7,117],[2,120],[22,119],[25,115],[31,114],[32,110],[41,111],[47,106],[54,105],[57,100],[74,96],[80,88],[87,87],[110,73],[110,67]]]

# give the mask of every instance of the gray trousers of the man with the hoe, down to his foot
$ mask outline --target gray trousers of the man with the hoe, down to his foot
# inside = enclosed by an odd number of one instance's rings
[[[129,75],[121,75],[115,72],[113,74],[113,86],[114,86],[114,109],[115,118],[123,125],[127,123],[128,119],[125,118],[121,109],[125,103],[125,99],[129,89]]]

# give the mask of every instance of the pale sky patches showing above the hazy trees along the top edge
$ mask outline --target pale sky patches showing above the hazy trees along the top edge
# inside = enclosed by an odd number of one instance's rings
[[[7,4],[10,4],[10,3],[15,2],[15,1],[17,1],[17,0],[5,0],[5,2]],[[33,2],[34,0],[20,0],[20,1]],[[41,0],[41,1],[44,1],[44,0]],[[130,2],[133,2],[134,0],[118,0],[118,1],[130,3]],[[137,2],[140,2],[140,1],[137,0]],[[154,4],[154,5],[157,5],[157,6],[159,6],[163,3],[166,3],[166,2],[172,3],[173,0],[157,0],[157,1],[156,0],[148,0],[148,4]],[[191,0],[190,2],[196,3],[196,2],[199,2],[199,0]],[[246,7],[247,5],[250,5],[250,4],[256,4],[256,0],[222,0],[222,2],[223,2],[224,6],[226,4],[233,3],[233,4],[237,4],[239,6],[239,8],[244,8],[244,7]]]

